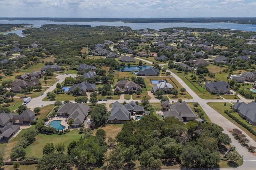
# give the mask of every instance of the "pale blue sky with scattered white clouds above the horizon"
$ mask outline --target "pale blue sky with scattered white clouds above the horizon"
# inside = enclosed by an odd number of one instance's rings
[[[256,17],[255,0],[0,0],[0,17]]]

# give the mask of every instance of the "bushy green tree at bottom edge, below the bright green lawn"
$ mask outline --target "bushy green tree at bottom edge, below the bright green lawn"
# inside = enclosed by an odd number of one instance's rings
[[[36,166],[37,170],[72,170],[73,161],[68,155],[46,154]]]

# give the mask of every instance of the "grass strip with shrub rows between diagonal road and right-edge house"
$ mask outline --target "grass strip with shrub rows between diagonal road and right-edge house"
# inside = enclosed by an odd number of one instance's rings
[[[237,122],[235,122],[233,119],[231,119],[226,113],[224,113],[224,110],[230,110],[230,106],[233,107],[232,104],[226,103],[226,106],[224,106],[224,103],[208,103],[209,106],[211,106],[214,110],[216,110],[218,113],[226,117],[229,121],[234,123],[237,127],[242,129],[248,136],[250,136],[254,141],[256,141],[256,136],[252,135],[247,129],[239,125]],[[232,113],[234,116],[238,117],[238,113]],[[239,116],[240,117],[240,116]],[[242,121],[242,118],[240,119]],[[255,129],[255,126],[250,126],[253,129]]]

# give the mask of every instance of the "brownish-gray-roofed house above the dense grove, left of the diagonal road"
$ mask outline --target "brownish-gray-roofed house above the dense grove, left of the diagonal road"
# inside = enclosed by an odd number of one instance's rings
[[[170,108],[166,108],[170,106]],[[179,122],[187,122],[196,120],[196,115],[192,111],[192,109],[188,106],[188,104],[184,101],[182,103],[177,102],[173,105],[168,104],[168,102],[164,103],[164,107],[168,111],[163,111],[163,118],[166,117],[175,117]],[[163,108],[163,105],[162,105]],[[169,110],[170,109],[170,110]]]

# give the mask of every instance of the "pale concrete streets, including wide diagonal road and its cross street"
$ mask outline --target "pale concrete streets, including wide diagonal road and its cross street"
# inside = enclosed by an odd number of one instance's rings
[[[145,59],[140,59],[138,57],[135,57],[135,59],[139,59],[139,60],[142,60],[144,62],[152,64],[152,62],[147,61]],[[170,70],[167,70],[167,71],[170,71]],[[244,164],[240,167],[237,167],[236,169],[238,169],[238,170],[252,170],[252,169],[255,169],[255,167],[256,167],[256,156],[254,156],[252,153],[248,152],[248,150],[245,147],[242,147],[240,145],[240,143],[238,143],[238,141],[236,139],[234,139],[232,134],[228,131],[228,129],[234,129],[234,128],[240,129],[240,128],[238,128],[236,125],[234,125],[234,123],[232,123],[231,121],[229,121],[228,119],[226,119],[225,117],[220,115],[217,111],[215,111],[212,107],[210,107],[207,104],[207,103],[210,103],[210,102],[228,102],[228,103],[232,103],[232,102],[236,102],[236,100],[226,100],[226,99],[225,100],[206,100],[206,99],[201,99],[195,92],[193,92],[188,87],[188,85],[186,85],[186,83],[180,77],[178,77],[173,72],[171,72],[171,75],[174,78],[176,78],[176,80],[181,84],[181,86],[186,88],[186,91],[193,98],[193,99],[190,99],[190,100],[183,100],[183,101],[185,101],[185,102],[198,102],[198,104],[200,104],[200,106],[202,107],[204,112],[207,114],[207,116],[210,118],[212,123],[215,123],[215,124],[221,126],[224,129],[224,133],[226,133],[230,136],[230,138],[232,139],[231,145],[234,145],[236,147],[236,150],[239,152],[240,155],[243,156],[243,159],[244,159]],[[56,76],[56,78],[58,78],[59,80],[53,86],[51,86],[48,90],[46,90],[46,92],[44,92],[44,95],[39,96],[37,98],[33,98],[31,100],[31,102],[29,102],[27,104],[27,106],[30,109],[34,109],[35,107],[41,107],[42,105],[46,106],[46,105],[49,105],[49,104],[54,104],[55,101],[45,102],[45,101],[42,101],[42,100],[46,97],[47,92],[52,92],[56,88],[57,83],[62,83],[65,80],[65,78],[69,77],[69,76],[75,77],[77,75],[75,75],[75,74],[68,74],[68,75],[58,74],[58,76]],[[130,101],[131,100],[132,99],[130,99]],[[106,103],[106,105],[109,106],[109,104],[114,103],[115,101],[116,100],[99,101],[98,104]],[[120,100],[118,100],[118,102],[120,102],[120,103],[122,103],[124,101],[126,101],[124,99],[124,97],[121,97]],[[134,100],[134,101],[140,102],[140,100]],[[178,100],[172,100],[172,101],[177,102]],[[252,100],[246,100],[246,99],[240,100],[240,102],[251,102],[251,101]],[[71,101],[71,102],[74,102],[74,101]],[[159,102],[160,101],[156,98],[151,97],[151,99],[150,99],[150,103],[159,103]],[[246,133],[244,133],[244,134],[246,135]],[[256,146],[256,142],[254,140],[252,140],[252,138],[250,138],[248,135],[246,135],[246,137],[250,140],[250,143],[248,143],[248,145]],[[234,169],[234,168],[218,168],[218,169],[230,170],[230,169]],[[190,170],[190,169],[186,169],[186,170]]]

